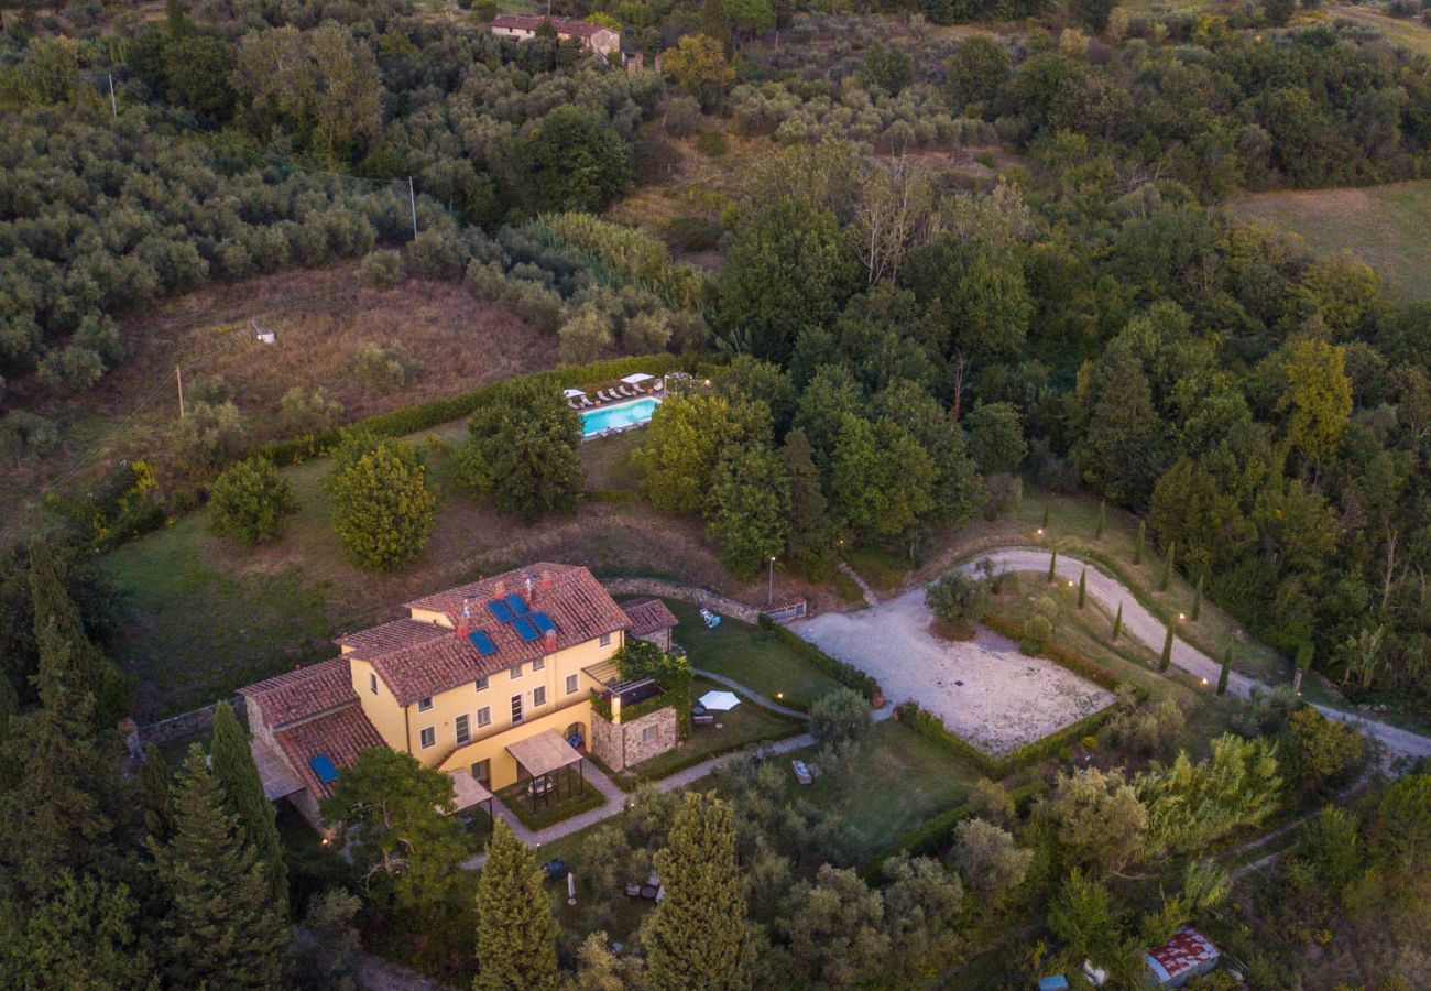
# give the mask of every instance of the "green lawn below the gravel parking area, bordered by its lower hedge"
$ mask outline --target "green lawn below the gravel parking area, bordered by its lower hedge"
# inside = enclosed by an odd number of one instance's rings
[[[781,755],[786,768],[801,752]],[[806,755],[809,756],[809,755]],[[860,856],[890,846],[930,816],[964,801],[979,772],[893,719],[876,723],[849,768],[790,796],[831,808],[854,833]]]

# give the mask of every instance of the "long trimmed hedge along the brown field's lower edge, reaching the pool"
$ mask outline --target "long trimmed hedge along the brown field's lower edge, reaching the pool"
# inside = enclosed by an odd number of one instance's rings
[[[349,424],[346,430],[376,434],[379,437],[404,437],[415,434],[419,430],[429,430],[439,424],[469,417],[488,402],[501,401],[507,391],[512,388],[512,384],[518,381],[537,381],[560,390],[585,382],[621,378],[638,371],[650,375],[664,375],[678,371],[683,367],[683,359],[675,355],[655,354],[597,361],[590,365],[572,365],[571,368],[555,368],[515,378],[501,378],[469,392],[379,412]],[[286,441],[265,444],[258,450],[258,454],[278,465],[299,464],[301,461],[325,454],[338,443],[338,438],[339,431],[336,430],[326,434],[303,434]]]

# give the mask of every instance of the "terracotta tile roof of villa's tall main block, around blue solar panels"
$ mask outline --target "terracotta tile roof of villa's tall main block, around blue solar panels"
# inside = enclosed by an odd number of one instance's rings
[[[522,640],[511,623],[502,623],[492,616],[488,601],[511,594],[522,596],[532,611],[547,613],[557,627],[554,642],[545,637]],[[465,623],[464,604],[468,606]],[[371,647],[355,649],[352,656],[372,663],[373,670],[396,696],[398,705],[404,706],[454,689],[464,682],[495,675],[512,664],[631,627],[631,619],[591,571],[571,564],[539,563],[495,574],[406,603],[406,609],[444,613],[455,627],[465,626],[467,632],[482,630],[492,639],[497,652],[485,657],[478,654],[477,647],[461,630],[438,630],[436,637],[424,633],[421,640],[394,650],[382,649],[388,642],[386,636],[369,637],[385,627],[345,637],[355,643],[359,640],[371,643]]]

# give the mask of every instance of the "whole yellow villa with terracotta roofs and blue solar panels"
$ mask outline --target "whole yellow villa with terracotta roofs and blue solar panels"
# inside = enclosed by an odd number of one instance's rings
[[[622,609],[587,569],[542,563],[404,609],[339,637],[341,656],[239,692],[265,793],[315,826],[338,772],[371,746],[452,775],[465,808],[578,762],[588,745],[618,766],[654,756],[653,740],[674,743],[670,709],[621,726],[622,697],[653,686],[622,682],[612,663],[627,634],[670,647],[675,616],[660,600]]]

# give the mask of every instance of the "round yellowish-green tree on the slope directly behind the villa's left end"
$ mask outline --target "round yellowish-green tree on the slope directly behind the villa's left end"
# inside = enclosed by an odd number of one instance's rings
[[[436,500],[408,444],[355,435],[333,458],[333,530],[353,560],[391,570],[422,553]]]

